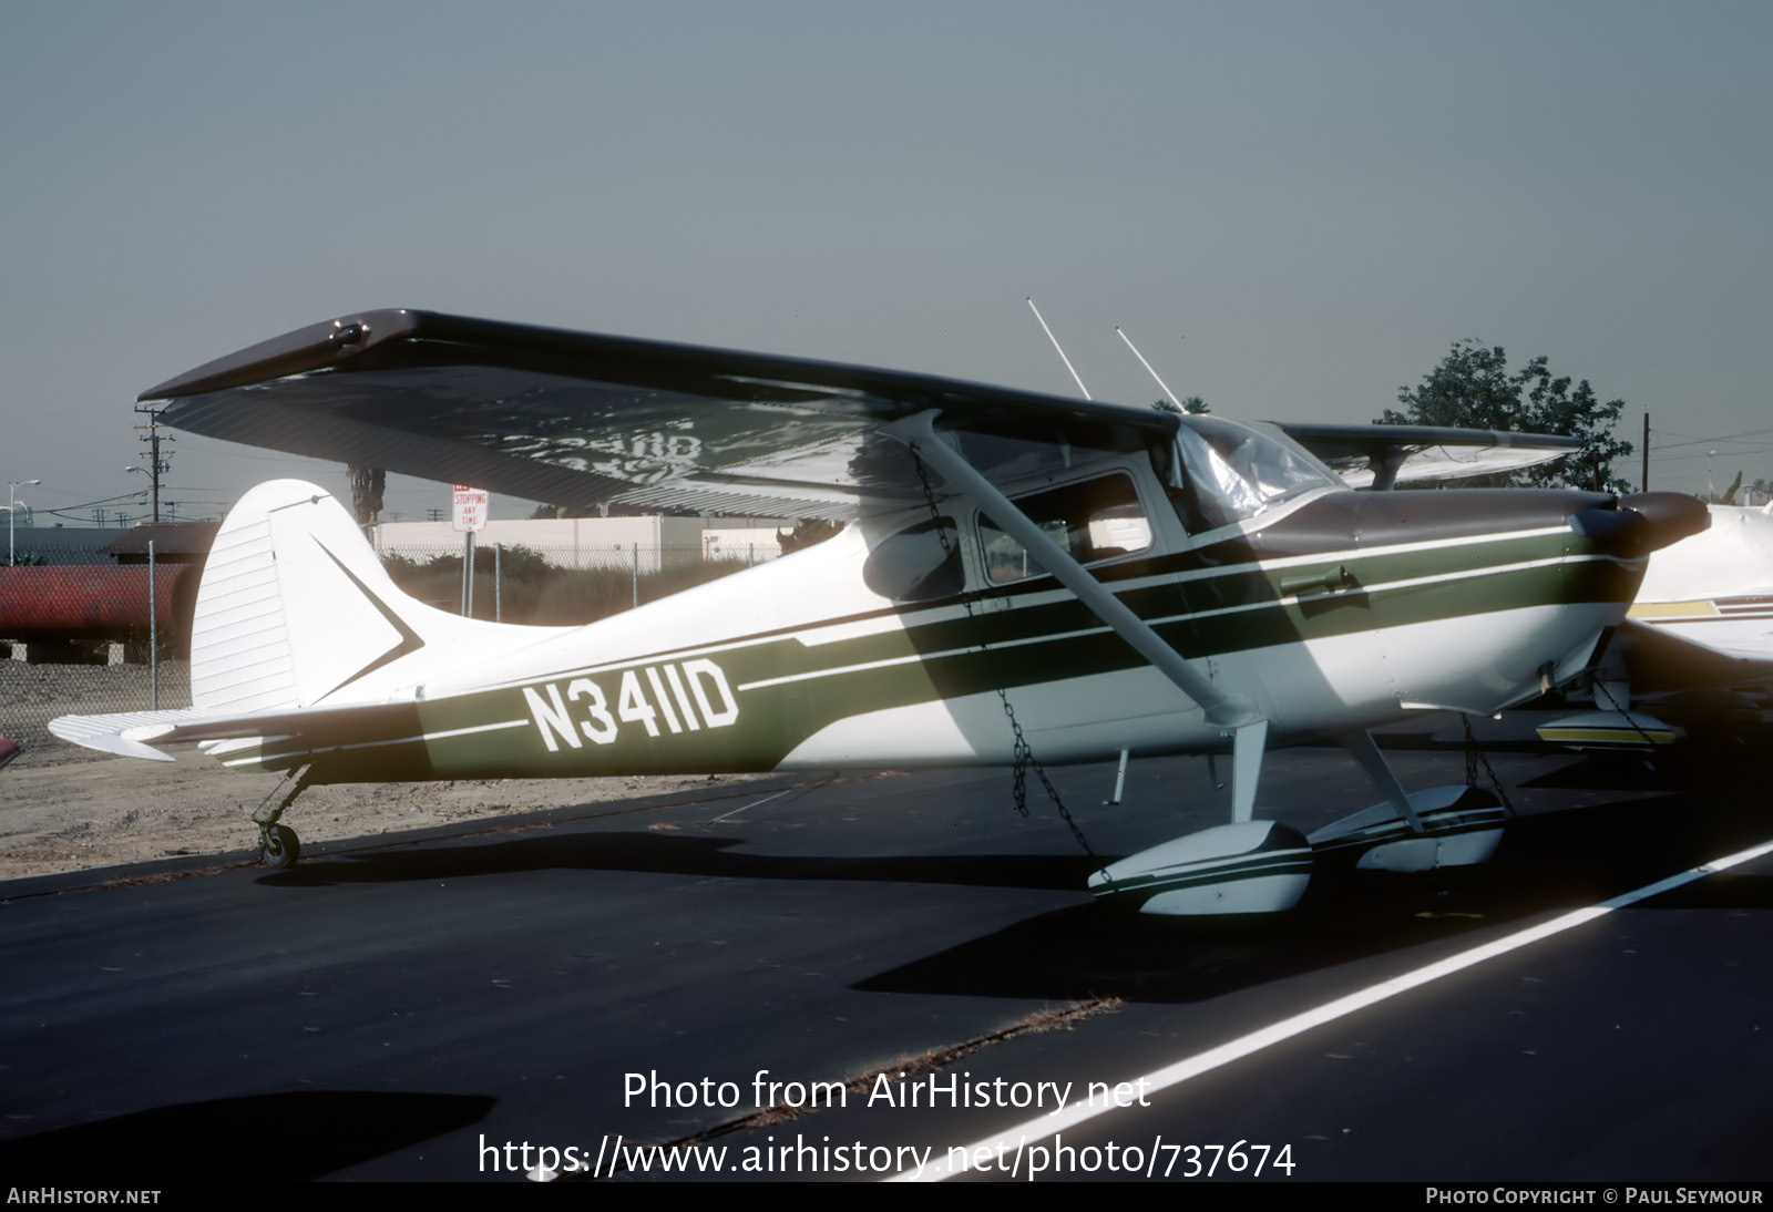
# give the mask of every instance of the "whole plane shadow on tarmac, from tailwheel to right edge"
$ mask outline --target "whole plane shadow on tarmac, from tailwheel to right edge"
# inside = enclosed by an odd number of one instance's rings
[[[1599,767],[1619,769],[1619,767]],[[1738,771],[1743,774],[1746,771]],[[1482,866],[1392,875],[1324,866],[1298,909],[1275,918],[1147,918],[1074,904],[970,939],[853,985],[920,992],[1076,1001],[1188,1003],[1346,964],[1534,914],[1590,905],[1759,842],[1764,794],[1746,778],[1537,812],[1509,826]],[[1668,783],[1679,781],[1668,778]],[[1573,760],[1534,785],[1596,789]],[[840,881],[1023,888],[1076,893],[1101,859],[1046,854],[780,856],[734,852],[741,838],[670,831],[523,835],[496,842],[411,845],[326,858],[262,877],[278,888],[461,879],[527,870],[651,872],[752,881]],[[1773,907],[1773,879],[1732,875],[1644,902],[1665,907]],[[840,909],[833,909],[840,911]]]

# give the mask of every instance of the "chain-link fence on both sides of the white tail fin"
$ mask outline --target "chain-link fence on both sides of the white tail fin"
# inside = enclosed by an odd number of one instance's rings
[[[438,610],[468,613],[472,595],[475,618],[578,625],[773,560],[780,549],[479,546],[472,581],[463,578],[461,548],[379,555],[395,585]],[[165,560],[112,563],[87,548],[20,551],[18,567],[0,567],[0,737],[20,744],[21,762],[92,757],[50,735],[57,716],[190,707],[200,572],[199,563]]]

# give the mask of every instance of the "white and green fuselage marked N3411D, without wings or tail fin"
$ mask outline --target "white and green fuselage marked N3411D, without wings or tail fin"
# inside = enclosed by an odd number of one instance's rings
[[[1644,571],[1642,551],[1574,521],[1612,507],[1590,493],[1323,486],[1202,517],[1138,455],[1023,489],[1030,514],[1089,501],[1053,532],[1254,702],[1271,744],[1528,698],[1587,663]],[[585,627],[525,631],[500,629],[480,661],[457,650],[427,668],[415,652],[379,670],[363,688],[390,703],[379,728],[220,757],[312,760],[314,781],[1002,764],[1005,705],[1041,760],[1223,746],[1197,703],[956,498]]]

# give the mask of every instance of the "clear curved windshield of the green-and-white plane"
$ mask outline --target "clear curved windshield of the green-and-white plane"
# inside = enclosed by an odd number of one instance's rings
[[[1172,484],[1170,498],[1193,533],[1255,517],[1308,489],[1340,487],[1340,480],[1278,431],[1188,416],[1175,448],[1183,484]]]

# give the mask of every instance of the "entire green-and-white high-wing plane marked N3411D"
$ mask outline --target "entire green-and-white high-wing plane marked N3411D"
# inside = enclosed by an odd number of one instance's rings
[[[1011,764],[1230,751],[1223,826],[1106,865],[1147,913],[1285,909],[1314,861],[1480,861],[1502,808],[1406,794],[1367,728],[1493,712],[1578,673],[1677,494],[1355,493],[1303,445],[1464,470],[1564,439],[1312,427],[931,376],[365,312],[142,395],[193,432],[528,500],[851,523],[807,551],[583,627],[406,597],[324,491],[261,484],[202,574],[184,711],[66,716],[67,741],[310,783]],[[1464,454],[1457,454],[1457,447]],[[1470,452],[1488,452],[1468,462]],[[1005,718],[1007,716],[1007,718]],[[1383,803],[1310,838],[1255,817],[1268,746],[1340,742]],[[167,758],[163,758],[167,760]]]

